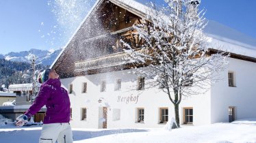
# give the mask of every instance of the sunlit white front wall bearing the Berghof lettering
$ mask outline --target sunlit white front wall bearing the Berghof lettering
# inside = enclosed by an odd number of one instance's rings
[[[159,124],[159,108],[168,108],[169,120],[175,117],[174,107],[168,95],[156,89],[144,89],[137,91],[137,76],[127,74],[129,70],[78,76],[75,78],[62,79],[62,84],[68,89],[73,84],[71,107],[73,110],[73,127],[101,128],[101,107],[107,106],[107,128],[127,127],[164,127]],[[114,83],[121,79],[121,90],[114,91]],[[101,81],[107,81],[106,92],[101,93]],[[82,83],[87,82],[87,93],[81,93]],[[146,86],[147,84],[145,84]],[[98,100],[103,98],[100,104]],[[124,97],[129,97],[121,101]],[[131,97],[133,101],[131,101]],[[179,106],[180,123],[183,123],[183,108],[192,107],[194,110],[194,125],[210,123],[210,98],[209,92],[204,95],[187,97]],[[119,98],[119,100],[118,100]],[[107,105],[105,104],[107,103]],[[100,108],[99,108],[100,107]],[[81,121],[81,108],[87,108],[87,120]],[[144,108],[144,123],[136,123],[137,108]],[[120,120],[114,118],[114,110],[120,109]]]

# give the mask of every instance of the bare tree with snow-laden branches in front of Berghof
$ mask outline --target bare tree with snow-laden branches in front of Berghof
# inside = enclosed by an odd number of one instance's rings
[[[220,80],[218,72],[225,69],[229,57],[209,48],[209,38],[203,33],[205,12],[199,11],[199,2],[166,0],[166,7],[153,5],[144,24],[133,26],[144,40],[140,50],[122,40],[129,60],[145,65],[136,74],[150,79],[150,86],[159,86],[168,95],[178,127],[181,99],[204,93],[213,81]]]

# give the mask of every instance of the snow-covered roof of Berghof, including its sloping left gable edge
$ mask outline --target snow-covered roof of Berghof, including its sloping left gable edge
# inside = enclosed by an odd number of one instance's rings
[[[73,37],[75,37],[75,34],[79,29],[82,27],[84,22],[92,16],[92,14],[97,10],[97,7],[101,5],[101,3],[104,0],[97,0],[97,2],[94,4],[90,12],[88,12],[86,18],[81,22],[78,29],[75,31],[71,39],[68,41],[66,46],[64,46],[62,52],[57,56],[53,64],[50,68],[52,68],[58,59],[62,56],[66,48],[68,47],[68,44],[71,42]],[[128,10],[129,12],[136,14],[142,18],[145,18],[146,11],[149,10],[146,6],[146,3],[142,4],[138,1],[140,0],[108,0],[112,3],[125,8],[125,10]],[[143,1],[144,2],[144,1]],[[249,37],[245,34],[242,34],[238,31],[235,31],[234,29],[231,29],[230,27],[227,27],[225,25],[221,25],[218,22],[210,21],[209,25],[205,28],[205,33],[212,37],[212,45],[213,48],[216,47],[215,44],[221,45],[222,48],[218,50],[227,50],[227,52],[232,52],[235,54],[241,54],[247,57],[253,57],[256,58],[256,39],[253,39],[252,37]]]

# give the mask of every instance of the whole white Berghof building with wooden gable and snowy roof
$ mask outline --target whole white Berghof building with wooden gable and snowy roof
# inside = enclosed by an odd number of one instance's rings
[[[166,93],[147,89],[132,72],[120,39],[142,44],[132,25],[144,22],[145,5],[134,0],[99,0],[51,68],[71,98],[71,125],[88,128],[163,127],[175,117]],[[179,106],[181,124],[206,125],[256,116],[256,40],[209,22],[212,48],[231,53],[220,82]],[[141,52],[144,52],[141,50]]]

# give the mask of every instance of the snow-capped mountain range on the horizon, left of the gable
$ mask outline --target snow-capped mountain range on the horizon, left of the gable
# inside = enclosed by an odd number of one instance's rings
[[[38,50],[32,48],[29,51],[21,52],[9,52],[8,54],[0,54],[0,59],[5,59],[8,61],[21,61],[30,63],[32,55],[38,57],[36,63],[42,63],[42,65],[51,65],[58,54],[60,54],[62,48],[57,50]]]

